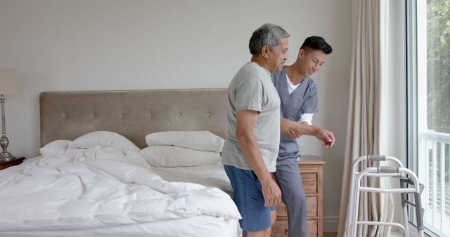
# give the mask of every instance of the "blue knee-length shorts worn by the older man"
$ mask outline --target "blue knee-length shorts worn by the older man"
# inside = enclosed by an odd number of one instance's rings
[[[233,187],[233,200],[242,219],[240,228],[245,231],[262,231],[271,226],[270,212],[275,207],[264,206],[261,182],[252,170],[241,170],[232,165],[224,165],[226,175]]]

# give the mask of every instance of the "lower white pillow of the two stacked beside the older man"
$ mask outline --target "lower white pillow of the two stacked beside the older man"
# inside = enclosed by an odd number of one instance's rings
[[[150,165],[157,167],[212,165],[221,161],[217,152],[173,146],[146,147],[141,150],[141,155]]]

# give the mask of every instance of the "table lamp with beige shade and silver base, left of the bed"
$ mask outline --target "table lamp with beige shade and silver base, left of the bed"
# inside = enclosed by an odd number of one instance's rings
[[[6,137],[6,123],[5,123],[5,96],[20,94],[20,86],[18,80],[15,78],[15,70],[11,68],[0,68],[0,102],[1,102],[1,138],[0,144],[3,151],[0,153],[1,161],[11,161],[15,158],[6,149],[9,144],[8,137]]]

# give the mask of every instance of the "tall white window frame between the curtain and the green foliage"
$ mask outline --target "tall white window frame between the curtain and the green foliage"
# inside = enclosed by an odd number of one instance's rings
[[[425,5],[425,6],[423,6]],[[423,15],[425,14],[425,15]],[[427,168],[428,161],[420,154],[420,137],[419,133],[426,130],[426,119],[424,116],[419,116],[420,111],[427,111],[427,104],[423,102],[426,100],[427,81],[427,67],[419,67],[419,65],[427,65],[427,4],[425,0],[406,0],[406,167],[416,172],[419,177],[428,177]],[[423,27],[425,25],[425,27]],[[424,55],[425,54],[425,55]],[[420,88],[420,90],[419,90]],[[422,101],[422,102],[419,102]],[[420,126],[425,126],[421,128]],[[425,184],[427,185],[427,184]],[[428,187],[425,187],[423,192],[422,204],[427,205],[425,192]],[[415,215],[413,215],[413,207],[409,207],[409,219],[412,225],[416,223]],[[424,215],[424,224],[425,224]],[[410,228],[411,229],[411,228]],[[414,231],[416,231],[414,229]],[[410,233],[417,233],[410,231]],[[439,236],[432,229],[425,226],[425,234],[432,237]]]

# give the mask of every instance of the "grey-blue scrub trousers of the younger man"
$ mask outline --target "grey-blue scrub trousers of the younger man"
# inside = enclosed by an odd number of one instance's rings
[[[288,207],[289,237],[307,237],[307,197],[297,157],[278,157],[274,175],[281,189],[281,200]]]

